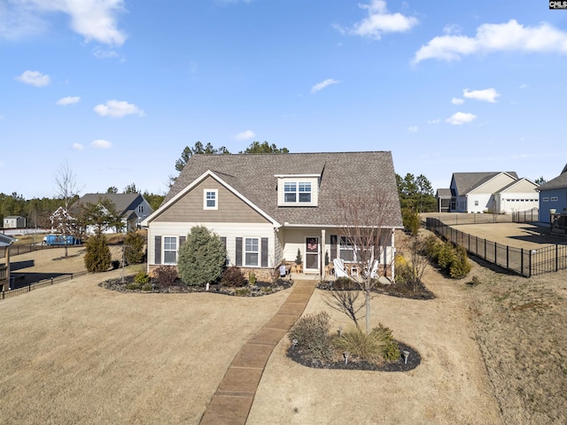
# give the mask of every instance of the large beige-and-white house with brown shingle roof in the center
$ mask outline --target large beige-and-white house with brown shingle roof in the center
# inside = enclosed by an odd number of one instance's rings
[[[392,274],[394,229],[403,226],[391,152],[194,155],[144,220],[148,270],[176,265],[190,228],[203,225],[221,237],[230,265],[259,278],[291,264],[298,250],[305,273],[324,274],[326,259],[353,256],[338,230],[338,195],[370,190],[388,200],[377,225],[380,262]]]

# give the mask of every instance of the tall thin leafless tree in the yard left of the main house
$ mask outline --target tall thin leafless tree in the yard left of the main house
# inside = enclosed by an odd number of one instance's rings
[[[63,220],[57,223],[58,232],[65,238],[65,257],[67,254],[67,236],[74,235],[76,226],[69,214],[69,209],[79,200],[80,188],[77,185],[76,176],[65,159],[55,174],[56,196],[62,201],[66,214],[62,214]]]

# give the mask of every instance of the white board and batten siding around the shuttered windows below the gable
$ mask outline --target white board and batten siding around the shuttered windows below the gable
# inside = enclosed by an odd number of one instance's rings
[[[152,222],[148,229],[148,266],[158,264],[156,262],[156,239],[161,243],[164,236],[177,237],[177,249],[179,250],[180,237],[186,237],[190,229],[194,226],[205,226],[218,236],[226,238],[226,247],[228,254],[229,266],[236,265],[237,237],[258,237],[268,239],[268,252],[264,255],[268,256],[268,267],[275,267],[276,251],[275,251],[275,231],[271,223],[263,224],[238,224],[234,223],[217,223],[217,222]],[[156,237],[158,236],[158,237]],[[259,241],[259,243],[260,243]],[[163,254],[161,254],[163,259]],[[160,259],[160,260],[161,260]]]

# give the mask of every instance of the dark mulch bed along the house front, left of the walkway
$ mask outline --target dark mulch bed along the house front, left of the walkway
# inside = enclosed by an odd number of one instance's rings
[[[128,275],[124,276],[124,282],[121,278],[110,279],[108,281],[99,283],[98,286],[105,288],[107,290],[117,290],[120,292],[133,292],[133,293],[159,293],[159,294],[184,294],[193,292],[207,292],[204,286],[189,286],[184,284],[181,280],[177,279],[173,285],[167,287],[161,287],[156,283],[152,290],[128,290],[126,286],[128,283],[134,282],[134,276]],[[263,297],[269,294],[273,294],[280,290],[286,290],[291,288],[293,282],[278,280],[275,284],[268,282],[256,282],[255,285],[246,285],[243,288],[227,288],[222,287],[221,284],[213,284],[209,286],[209,293],[221,294],[237,297]]]

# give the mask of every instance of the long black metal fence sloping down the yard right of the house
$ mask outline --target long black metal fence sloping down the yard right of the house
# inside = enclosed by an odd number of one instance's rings
[[[426,220],[426,228],[481,259],[526,277],[567,269],[567,245],[555,244],[537,250],[516,248],[469,235],[432,218]]]

